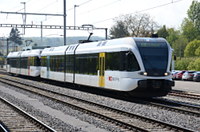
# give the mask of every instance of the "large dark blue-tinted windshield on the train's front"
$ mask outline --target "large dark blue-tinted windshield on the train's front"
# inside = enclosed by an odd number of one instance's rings
[[[167,71],[168,46],[166,42],[136,41],[148,76],[163,76]]]

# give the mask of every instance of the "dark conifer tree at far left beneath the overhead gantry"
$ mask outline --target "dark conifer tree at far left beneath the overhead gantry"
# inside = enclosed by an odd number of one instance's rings
[[[22,44],[22,38],[20,37],[19,31],[17,28],[11,29],[9,40],[18,45]]]

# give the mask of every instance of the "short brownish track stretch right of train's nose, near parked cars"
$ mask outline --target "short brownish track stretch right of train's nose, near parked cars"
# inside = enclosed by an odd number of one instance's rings
[[[172,90],[168,95],[200,100],[200,94],[182,92],[178,90]]]

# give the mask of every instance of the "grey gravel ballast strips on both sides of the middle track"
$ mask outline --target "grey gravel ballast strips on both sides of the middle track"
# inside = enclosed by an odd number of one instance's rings
[[[139,114],[139,115],[143,115],[145,117],[158,119],[158,120],[161,120],[164,122],[169,122],[171,124],[175,124],[175,125],[181,126],[181,127],[186,127],[188,129],[191,129],[194,131],[200,131],[200,125],[199,125],[200,118],[199,117],[194,117],[194,116],[189,116],[189,115],[185,115],[185,114],[180,114],[177,112],[163,110],[163,109],[145,105],[145,104],[139,104],[139,103],[124,101],[124,100],[119,100],[119,99],[113,99],[110,97],[95,95],[95,94],[91,94],[91,93],[85,93],[85,92],[81,92],[81,91],[77,91],[77,90],[61,88],[61,87],[52,86],[52,85],[48,85],[48,84],[44,84],[44,83],[35,83],[34,81],[30,81],[30,80],[26,80],[25,82],[29,83],[30,85],[33,84],[33,85],[40,86],[41,88],[44,88],[44,89],[51,89],[53,91],[63,93],[66,95],[70,95],[73,97],[82,98],[82,99],[89,100],[89,101],[92,101],[95,103],[104,104],[106,106],[113,107],[116,109],[128,111],[128,112],[131,112],[134,114]],[[115,126],[107,125],[102,120],[94,119],[93,117],[87,116],[86,114],[83,114],[82,112],[67,108],[67,107],[63,106],[62,104],[55,103],[54,101],[33,95],[29,92],[17,90],[12,87],[10,87],[10,89],[18,91],[20,93],[23,93],[23,94],[27,95],[28,97],[38,99],[45,106],[51,107],[52,109],[57,110],[62,113],[65,113],[66,115],[76,117],[78,120],[92,124],[93,126],[97,127],[98,129],[100,129],[102,131],[103,130],[104,131],[120,131]],[[1,89],[1,91],[2,92],[0,93],[0,95],[5,96],[6,98],[12,99],[14,96],[14,95],[11,96],[10,93],[8,93],[8,92],[5,93],[5,91],[3,91],[2,89]],[[62,119],[57,118],[57,117],[56,118],[52,117],[52,115],[50,116],[48,112],[41,111],[41,110],[39,110],[39,112],[35,112],[35,111],[38,111],[38,108],[35,108],[35,107],[31,106],[30,104],[25,103],[24,101],[17,101],[17,99],[13,99],[12,101],[14,101],[16,104],[19,103],[18,105],[20,105],[24,109],[27,109],[30,112],[33,111],[33,113],[35,115],[44,117],[44,119],[48,120],[47,122],[49,122],[49,124],[53,124],[53,126],[55,126],[54,125],[55,123],[59,124],[60,130],[64,130],[64,128],[63,128],[63,126],[64,126],[64,127],[67,127],[67,129],[69,129],[71,131],[84,131],[84,129],[82,127],[73,126],[73,123],[72,124],[64,123],[62,121]],[[192,102],[192,101],[190,101],[190,102]],[[195,102],[193,102],[193,103],[195,103]],[[50,119],[46,119],[49,117],[50,117]],[[56,129],[56,128],[54,128],[54,129]],[[87,130],[88,129],[86,129],[86,131]]]

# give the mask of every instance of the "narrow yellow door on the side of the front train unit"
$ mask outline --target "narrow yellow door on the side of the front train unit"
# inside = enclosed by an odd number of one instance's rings
[[[105,86],[105,53],[99,53],[99,86]]]

